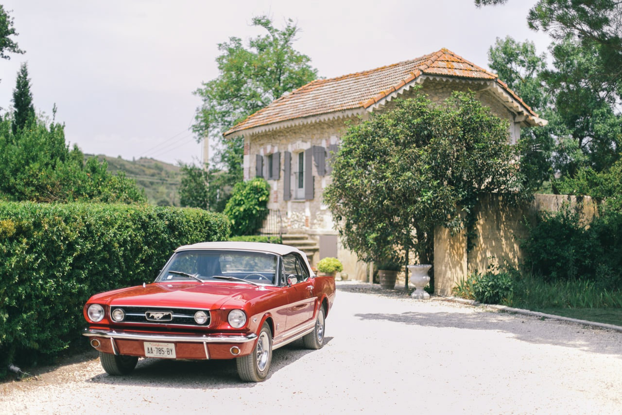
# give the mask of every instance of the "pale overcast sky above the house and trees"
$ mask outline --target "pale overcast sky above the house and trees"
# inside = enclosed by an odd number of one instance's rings
[[[248,39],[267,14],[277,27],[297,21],[295,49],[320,76],[360,72],[452,50],[488,67],[496,37],[546,52],[549,37],[527,27],[535,0],[478,9],[473,0],[0,0],[14,18],[24,55],[0,60],[0,107],[11,105],[21,62],[28,63],[35,108],[65,123],[85,153],[199,162],[189,130],[200,100],[193,91],[218,76],[217,44]]]

